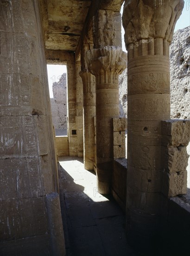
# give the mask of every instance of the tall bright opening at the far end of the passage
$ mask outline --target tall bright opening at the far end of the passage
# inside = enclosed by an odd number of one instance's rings
[[[55,134],[67,135],[67,66],[47,65],[47,71]]]

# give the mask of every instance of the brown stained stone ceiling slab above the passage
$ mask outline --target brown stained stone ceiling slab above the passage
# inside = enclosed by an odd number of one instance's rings
[[[46,49],[76,50],[90,4],[90,0],[40,0]]]

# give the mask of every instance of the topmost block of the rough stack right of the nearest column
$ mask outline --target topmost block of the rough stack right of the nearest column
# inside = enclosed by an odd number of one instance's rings
[[[187,146],[190,141],[190,120],[162,121],[162,144],[168,147]]]

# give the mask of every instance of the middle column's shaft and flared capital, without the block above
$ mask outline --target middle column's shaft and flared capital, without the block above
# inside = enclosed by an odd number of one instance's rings
[[[111,178],[106,176],[111,175],[113,157],[111,118],[119,117],[118,74],[126,67],[126,60],[119,47],[90,50],[86,59],[90,72],[96,76],[96,159],[97,174],[100,173],[101,177],[99,188],[103,194],[108,194]]]

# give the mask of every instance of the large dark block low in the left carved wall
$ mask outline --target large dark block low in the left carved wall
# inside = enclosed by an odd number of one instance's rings
[[[1,201],[0,209],[1,241],[48,233],[45,196]]]

